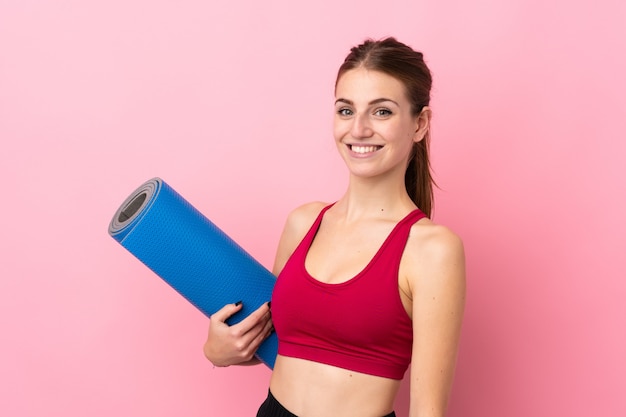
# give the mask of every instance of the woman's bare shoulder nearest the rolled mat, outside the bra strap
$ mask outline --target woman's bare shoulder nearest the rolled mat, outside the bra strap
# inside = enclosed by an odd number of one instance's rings
[[[327,205],[327,203],[315,201],[296,207],[289,213],[278,243],[276,259],[274,260],[274,267],[272,268],[272,272],[275,275],[278,275],[280,271],[282,271],[287,259],[289,259],[302,238],[304,238],[309,231],[320,211]]]

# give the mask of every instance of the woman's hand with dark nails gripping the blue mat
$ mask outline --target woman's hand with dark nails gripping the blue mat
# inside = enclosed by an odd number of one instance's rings
[[[258,362],[254,352],[273,331],[268,303],[248,317],[229,326],[226,320],[242,309],[241,304],[227,304],[211,316],[204,355],[215,366],[244,365]]]

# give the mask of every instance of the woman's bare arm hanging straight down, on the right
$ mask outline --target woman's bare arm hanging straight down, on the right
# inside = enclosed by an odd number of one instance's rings
[[[425,226],[410,250],[413,353],[410,417],[443,417],[454,378],[465,307],[465,254],[458,236]],[[415,243],[417,242],[417,243]]]

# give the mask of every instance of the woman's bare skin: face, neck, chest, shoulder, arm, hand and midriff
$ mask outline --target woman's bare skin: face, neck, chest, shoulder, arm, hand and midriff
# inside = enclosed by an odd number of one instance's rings
[[[337,83],[335,141],[350,171],[344,196],[324,216],[307,253],[308,272],[326,283],[359,273],[395,224],[415,210],[404,189],[414,142],[429,128],[430,110],[413,116],[402,84],[363,69]],[[287,219],[273,272],[278,275],[325,203],[310,203]],[[443,417],[452,384],[465,300],[461,240],[422,219],[402,256],[398,292],[413,320],[410,417]],[[214,364],[247,364],[271,329],[261,307],[238,325],[223,323],[230,305],[212,318],[205,354]],[[234,348],[235,347],[235,348]],[[400,381],[303,359],[276,359],[270,390],[301,417],[381,417],[393,410]]]

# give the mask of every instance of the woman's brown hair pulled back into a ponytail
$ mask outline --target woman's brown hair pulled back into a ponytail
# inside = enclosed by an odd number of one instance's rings
[[[368,39],[353,47],[339,67],[337,81],[345,72],[356,68],[380,71],[402,82],[414,116],[420,114],[430,103],[432,76],[424,62],[424,56],[395,38],[380,41]],[[429,144],[430,130],[426,132],[424,139],[413,145],[404,184],[411,200],[430,217],[433,208],[433,185],[436,184],[428,158]]]

